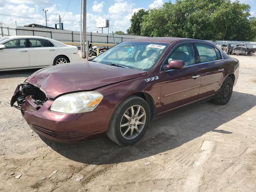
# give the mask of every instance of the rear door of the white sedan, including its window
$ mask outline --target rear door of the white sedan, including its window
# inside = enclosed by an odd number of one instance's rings
[[[48,66],[53,63],[57,47],[45,39],[28,39],[29,63],[31,67]]]

